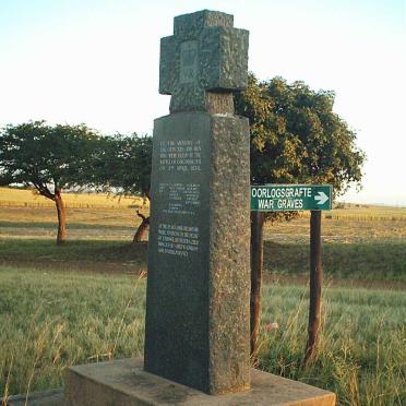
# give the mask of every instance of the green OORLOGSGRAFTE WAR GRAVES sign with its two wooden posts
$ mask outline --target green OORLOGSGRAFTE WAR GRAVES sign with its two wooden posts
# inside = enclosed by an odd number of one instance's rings
[[[310,304],[306,361],[318,350],[321,320],[321,211],[331,210],[331,184],[251,186],[251,350],[256,356],[263,263],[264,212],[310,210]]]

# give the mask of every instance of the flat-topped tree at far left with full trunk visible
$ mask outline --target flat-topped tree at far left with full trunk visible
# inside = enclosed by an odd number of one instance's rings
[[[0,183],[22,183],[55,202],[57,243],[67,237],[62,191],[87,184],[97,134],[86,126],[48,126],[45,121],[0,130]]]

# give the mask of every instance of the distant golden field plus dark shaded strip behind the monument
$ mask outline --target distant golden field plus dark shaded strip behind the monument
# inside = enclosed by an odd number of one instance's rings
[[[15,194],[24,194],[27,203],[34,199],[29,191],[0,188],[0,192],[8,201],[15,199]],[[133,207],[123,204],[106,208],[103,202],[111,198],[101,195],[74,199],[82,202],[88,199],[93,205],[98,202],[100,206],[68,207],[69,242],[63,250],[56,249],[51,242],[57,231],[53,207],[1,206],[0,261],[13,265],[39,261],[44,266],[52,262],[71,267],[86,261],[88,266],[95,267],[96,263],[101,270],[126,267],[131,263],[145,267],[143,253],[127,247],[140,224]],[[143,208],[146,213],[147,206]],[[332,216],[322,222],[323,262],[329,278],[406,283],[406,208],[350,205],[325,213]],[[289,223],[266,224],[264,237],[267,275],[297,276],[306,280],[308,213]]]

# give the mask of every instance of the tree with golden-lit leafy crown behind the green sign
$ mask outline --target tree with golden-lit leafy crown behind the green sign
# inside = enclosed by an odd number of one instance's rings
[[[330,183],[335,196],[351,183],[360,184],[365,154],[356,146],[356,133],[333,111],[334,97],[334,92],[314,92],[303,82],[288,84],[280,77],[259,82],[249,76],[247,91],[236,95],[235,104],[236,111],[250,120],[251,184]],[[266,215],[271,220],[291,216],[295,212]],[[253,216],[251,226],[258,229]],[[251,279],[256,286],[251,294],[254,353],[261,295],[261,274],[254,268]]]

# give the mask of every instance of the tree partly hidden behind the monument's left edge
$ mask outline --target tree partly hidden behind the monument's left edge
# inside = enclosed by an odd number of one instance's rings
[[[94,165],[94,183],[105,191],[120,195],[141,195],[150,200],[152,138],[116,134],[99,141],[99,154]],[[134,234],[133,242],[145,235],[150,217],[136,210],[141,224]]]

